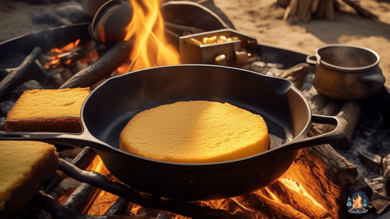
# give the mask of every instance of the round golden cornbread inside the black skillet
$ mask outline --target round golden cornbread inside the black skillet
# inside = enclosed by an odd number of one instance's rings
[[[120,134],[119,149],[153,160],[210,163],[270,148],[266,122],[229,103],[181,101],[137,114]]]

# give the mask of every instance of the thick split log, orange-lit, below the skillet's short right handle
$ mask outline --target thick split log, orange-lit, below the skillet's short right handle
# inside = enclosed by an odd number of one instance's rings
[[[320,134],[311,126],[308,136]],[[302,184],[303,188],[334,218],[347,216],[347,191],[356,182],[358,171],[329,144],[302,149],[282,176]]]

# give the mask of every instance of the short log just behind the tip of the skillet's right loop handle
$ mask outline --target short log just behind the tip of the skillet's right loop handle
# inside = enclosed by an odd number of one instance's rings
[[[352,143],[352,135],[362,118],[362,106],[359,102],[345,102],[337,116],[344,118],[348,122],[348,131],[340,141],[332,142],[331,145],[338,149],[349,149]]]

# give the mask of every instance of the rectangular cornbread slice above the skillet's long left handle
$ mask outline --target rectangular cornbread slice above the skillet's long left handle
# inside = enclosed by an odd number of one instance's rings
[[[8,113],[4,129],[79,133],[81,105],[90,92],[89,88],[24,91]]]

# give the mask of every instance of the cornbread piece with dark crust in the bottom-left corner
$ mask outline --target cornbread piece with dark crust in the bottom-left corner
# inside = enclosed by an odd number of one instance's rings
[[[58,155],[51,144],[0,141],[0,218],[23,208],[58,166]]]

